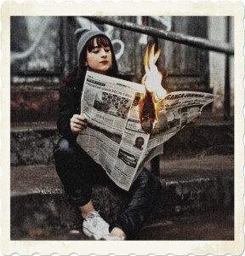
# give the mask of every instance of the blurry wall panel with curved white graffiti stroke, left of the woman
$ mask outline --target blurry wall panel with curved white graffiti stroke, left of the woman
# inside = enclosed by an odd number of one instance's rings
[[[59,32],[58,17],[11,17],[12,72],[59,70]]]

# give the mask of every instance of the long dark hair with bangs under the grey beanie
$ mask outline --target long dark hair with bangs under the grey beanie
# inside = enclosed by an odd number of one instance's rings
[[[114,54],[114,50],[111,44],[111,41],[104,36],[97,36],[96,42],[99,47],[107,47],[110,46],[111,49],[111,67],[107,70],[106,75],[111,77],[117,77],[118,69],[117,69],[117,61]],[[77,88],[77,90],[83,89],[83,82],[85,79],[85,74],[87,72],[88,67],[85,66],[85,62],[87,61],[87,49],[89,52],[94,48],[94,38],[90,38],[86,46],[83,48],[83,51],[80,55],[79,64],[77,67],[71,70],[68,73],[65,82],[67,86],[73,86]]]

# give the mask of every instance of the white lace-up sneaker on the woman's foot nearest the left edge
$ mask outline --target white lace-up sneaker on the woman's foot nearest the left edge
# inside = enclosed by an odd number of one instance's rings
[[[99,212],[89,212],[87,218],[83,220],[83,233],[100,240],[103,236],[110,235],[109,224],[100,217]]]

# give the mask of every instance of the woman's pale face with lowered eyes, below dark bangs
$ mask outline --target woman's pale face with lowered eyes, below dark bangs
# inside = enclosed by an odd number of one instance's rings
[[[94,48],[89,52],[87,49],[87,61],[85,66],[95,73],[105,74],[111,67],[110,46],[99,46],[94,38]]]

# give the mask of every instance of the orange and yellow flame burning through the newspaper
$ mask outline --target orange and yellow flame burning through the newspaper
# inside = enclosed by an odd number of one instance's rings
[[[162,73],[156,66],[160,52],[161,49],[158,49],[157,53],[155,53],[155,44],[149,50],[148,44],[144,58],[145,75],[141,80],[141,84],[145,85],[145,95],[142,95],[140,98],[138,110],[140,113],[140,124],[148,134],[157,125],[161,103],[167,95],[167,90],[162,87]]]

